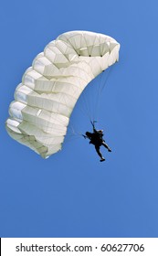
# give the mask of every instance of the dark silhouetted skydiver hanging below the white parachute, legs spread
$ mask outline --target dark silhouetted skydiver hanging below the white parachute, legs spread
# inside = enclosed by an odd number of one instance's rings
[[[108,146],[108,144],[105,143],[103,140],[103,130],[96,130],[94,126],[94,122],[91,123],[93,126],[93,133],[86,132],[86,135],[83,135],[84,138],[90,139],[90,144],[94,144],[97,154],[100,156],[100,162],[105,161],[105,158],[100,153],[100,146],[103,145],[108,149],[109,152],[111,152],[111,148]]]

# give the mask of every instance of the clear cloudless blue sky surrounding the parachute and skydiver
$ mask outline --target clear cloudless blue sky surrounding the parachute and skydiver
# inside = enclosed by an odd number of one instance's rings
[[[157,1],[6,0],[0,9],[0,237],[158,237]],[[5,132],[26,68],[49,41],[78,29],[121,43],[100,97],[97,128],[112,149],[102,148],[103,163],[81,137],[44,160]],[[81,105],[71,123],[84,133]]]

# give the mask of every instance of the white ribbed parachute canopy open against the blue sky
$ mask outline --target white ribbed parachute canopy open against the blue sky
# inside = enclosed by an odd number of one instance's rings
[[[118,61],[119,49],[112,37],[89,31],[70,31],[51,41],[16,87],[7,133],[44,158],[57,153],[79,95]]]

